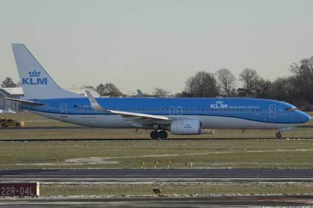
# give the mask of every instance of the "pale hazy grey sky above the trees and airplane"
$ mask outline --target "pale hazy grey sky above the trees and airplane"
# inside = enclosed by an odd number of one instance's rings
[[[24,43],[60,86],[180,92],[197,71],[275,79],[313,55],[313,0],[0,0],[0,81]],[[240,85],[239,85],[240,86]]]

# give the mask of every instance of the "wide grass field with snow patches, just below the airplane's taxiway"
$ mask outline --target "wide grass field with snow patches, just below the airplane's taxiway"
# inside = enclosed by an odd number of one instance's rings
[[[298,139],[2,142],[0,168],[313,168],[312,153]]]

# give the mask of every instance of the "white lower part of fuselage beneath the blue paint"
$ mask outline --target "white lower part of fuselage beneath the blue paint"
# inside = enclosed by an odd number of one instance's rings
[[[61,114],[46,113],[29,110],[47,118],[67,122],[75,125],[83,125],[99,128],[137,128],[129,121],[123,120],[121,115],[69,115],[62,117]],[[200,120],[203,129],[279,129],[285,127],[298,126],[300,124],[277,124],[251,121],[240,118],[222,117],[222,116],[171,116],[171,118],[183,117],[186,119]]]

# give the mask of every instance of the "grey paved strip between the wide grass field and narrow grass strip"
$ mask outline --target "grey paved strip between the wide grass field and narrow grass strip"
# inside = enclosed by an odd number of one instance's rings
[[[313,182],[313,169],[0,170],[1,183]]]

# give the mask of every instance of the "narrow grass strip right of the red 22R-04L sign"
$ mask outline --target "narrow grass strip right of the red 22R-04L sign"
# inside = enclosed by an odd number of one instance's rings
[[[153,188],[162,194],[301,194],[312,193],[313,183],[155,183],[155,184],[46,184],[41,195],[154,195]]]

